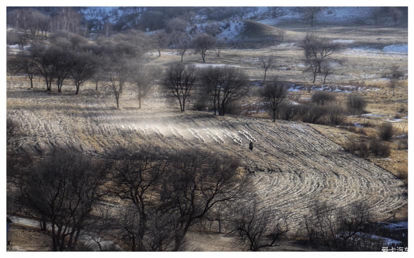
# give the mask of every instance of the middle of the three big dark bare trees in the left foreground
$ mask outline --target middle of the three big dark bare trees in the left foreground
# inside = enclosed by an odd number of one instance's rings
[[[156,200],[151,193],[160,185],[160,179],[166,171],[165,158],[159,149],[149,146],[129,146],[117,148],[110,155],[112,160],[111,181],[113,187],[107,193],[114,194],[132,205],[127,216],[136,223],[135,232],[130,236],[132,251],[145,251],[143,239],[147,233],[148,209]],[[127,226],[125,226],[127,227]]]

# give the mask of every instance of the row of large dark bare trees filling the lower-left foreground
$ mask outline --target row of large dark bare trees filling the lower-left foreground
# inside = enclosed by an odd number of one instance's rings
[[[53,251],[81,251],[88,245],[100,251],[179,251],[186,233],[203,221],[219,221],[226,228],[240,223],[234,217],[240,206],[233,204],[249,192],[237,159],[200,149],[131,145],[114,148],[103,159],[54,149],[33,160],[8,166],[15,186],[8,213],[38,220],[50,232]],[[121,205],[108,211],[102,202]],[[272,229],[261,230],[256,241],[265,243]]]

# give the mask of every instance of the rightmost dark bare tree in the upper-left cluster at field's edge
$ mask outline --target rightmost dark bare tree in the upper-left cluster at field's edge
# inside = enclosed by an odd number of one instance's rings
[[[92,78],[96,73],[96,62],[90,54],[77,53],[74,54],[70,63],[70,75],[76,86],[75,95],[79,93],[80,85],[86,80]]]

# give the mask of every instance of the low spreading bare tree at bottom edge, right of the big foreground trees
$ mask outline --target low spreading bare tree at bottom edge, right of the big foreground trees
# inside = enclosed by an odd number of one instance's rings
[[[255,202],[239,207],[233,219],[233,232],[240,239],[239,245],[247,245],[247,251],[253,252],[277,246],[280,238],[289,231],[286,216],[281,217],[280,222],[272,222],[274,218],[270,212],[260,209]]]

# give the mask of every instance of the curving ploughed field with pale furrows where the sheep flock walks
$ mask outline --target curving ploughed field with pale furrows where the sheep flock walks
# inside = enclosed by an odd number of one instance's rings
[[[240,159],[261,205],[275,216],[288,212],[297,227],[317,199],[343,207],[364,200],[381,218],[407,203],[402,181],[344,152],[306,124],[180,113],[159,103],[139,110],[128,99],[116,110],[113,99],[92,90],[73,96],[32,92],[11,87],[9,81],[7,86],[7,117],[23,124],[17,149],[67,146],[102,155],[113,146],[137,142],[226,152]]]

